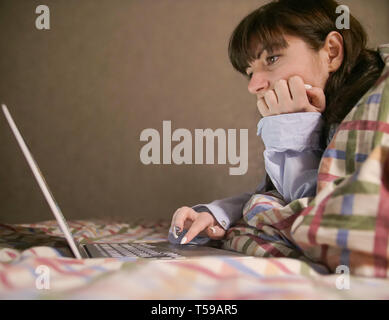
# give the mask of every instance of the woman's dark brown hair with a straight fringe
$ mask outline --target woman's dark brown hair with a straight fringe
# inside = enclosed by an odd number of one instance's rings
[[[362,25],[350,15],[350,28],[337,29],[338,3],[334,0],[276,0],[250,13],[235,28],[228,54],[233,67],[246,74],[258,50],[272,52],[287,47],[284,35],[297,36],[310,48],[320,50],[331,31],[343,37],[344,60],[324,89],[327,130],[340,123],[359,99],[374,85],[384,68],[376,51],[366,48]]]

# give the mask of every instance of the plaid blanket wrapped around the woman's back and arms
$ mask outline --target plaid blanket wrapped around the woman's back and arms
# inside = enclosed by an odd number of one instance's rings
[[[223,248],[389,276],[389,45],[379,52],[386,67],[325,150],[316,197],[286,204],[275,191],[253,195]]]

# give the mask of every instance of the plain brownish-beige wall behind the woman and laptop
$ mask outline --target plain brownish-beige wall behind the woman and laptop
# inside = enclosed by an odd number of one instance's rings
[[[0,2],[0,101],[6,103],[69,219],[170,218],[183,205],[256,187],[262,144],[255,97],[233,71],[227,43],[265,1],[47,1],[51,30],[35,28],[42,1]],[[370,44],[389,42],[389,2],[343,1]],[[372,32],[374,31],[374,32]],[[249,129],[249,169],[140,162],[145,128]],[[0,116],[0,222],[52,215]]]

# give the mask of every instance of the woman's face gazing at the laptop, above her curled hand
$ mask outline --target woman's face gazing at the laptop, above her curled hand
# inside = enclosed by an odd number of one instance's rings
[[[288,47],[275,52],[263,51],[250,64],[246,73],[250,76],[248,90],[262,98],[267,90],[272,90],[277,80],[288,80],[300,76],[305,84],[324,90],[329,77],[326,56],[315,52],[300,38],[284,36]]]

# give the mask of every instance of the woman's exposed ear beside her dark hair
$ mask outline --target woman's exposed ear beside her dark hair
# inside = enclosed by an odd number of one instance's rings
[[[328,72],[337,71],[344,58],[343,37],[339,32],[332,31],[327,35],[323,50],[328,65]]]

